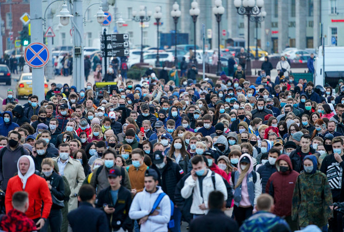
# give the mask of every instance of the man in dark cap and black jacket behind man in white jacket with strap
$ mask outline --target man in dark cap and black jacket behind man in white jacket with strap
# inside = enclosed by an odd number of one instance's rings
[[[158,151],[157,149],[161,148],[160,145],[155,146],[155,152],[153,154],[153,164],[150,166],[150,169],[155,170],[158,174],[159,186],[161,186],[164,193],[175,203],[175,190],[176,185],[180,179],[185,175],[183,169],[174,162],[171,158],[167,156],[167,153]],[[180,222],[181,222],[181,212],[178,207],[174,208],[174,219],[175,227],[171,228],[171,231],[180,231]]]

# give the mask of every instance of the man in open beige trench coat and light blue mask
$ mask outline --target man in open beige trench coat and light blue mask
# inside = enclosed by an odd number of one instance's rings
[[[71,158],[70,155],[68,143],[62,143],[59,146],[59,156],[53,158],[58,163],[60,174],[65,176],[69,183],[68,212],[78,207],[77,196],[85,180],[84,167],[78,160]]]

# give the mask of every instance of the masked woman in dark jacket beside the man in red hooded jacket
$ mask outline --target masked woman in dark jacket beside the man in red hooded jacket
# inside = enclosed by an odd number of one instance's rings
[[[60,232],[62,225],[62,211],[65,200],[65,186],[63,178],[56,173],[54,168],[54,161],[51,158],[45,158],[42,161],[43,178],[47,181],[52,198],[52,206],[49,217],[47,218],[42,231],[47,231],[50,225],[51,232]]]

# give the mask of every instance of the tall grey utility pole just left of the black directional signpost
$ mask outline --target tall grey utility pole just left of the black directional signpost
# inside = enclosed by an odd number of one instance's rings
[[[77,90],[85,88],[85,70],[84,70],[84,29],[83,29],[83,3],[82,0],[74,0],[72,24],[75,33],[73,33],[73,85]]]

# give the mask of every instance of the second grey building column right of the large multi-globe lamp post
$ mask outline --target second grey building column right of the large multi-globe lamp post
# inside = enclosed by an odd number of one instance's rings
[[[282,52],[288,42],[288,1],[278,0],[278,52]]]

